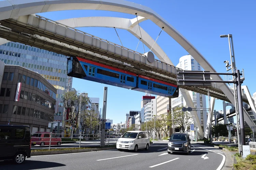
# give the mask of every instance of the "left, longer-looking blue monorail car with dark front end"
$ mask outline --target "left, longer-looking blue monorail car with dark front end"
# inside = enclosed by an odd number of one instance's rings
[[[71,77],[127,89],[136,88],[137,74],[79,57],[68,58],[67,73]]]

